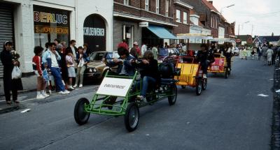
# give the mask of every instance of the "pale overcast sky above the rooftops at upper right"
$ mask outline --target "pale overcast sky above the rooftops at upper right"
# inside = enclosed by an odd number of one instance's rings
[[[280,0],[212,0],[213,5],[223,8],[223,16],[228,22],[236,22],[235,35],[280,36]],[[248,22],[244,24],[244,22]]]

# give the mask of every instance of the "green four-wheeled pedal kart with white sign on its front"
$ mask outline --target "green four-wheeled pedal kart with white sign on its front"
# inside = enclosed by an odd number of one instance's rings
[[[139,123],[140,107],[166,98],[169,105],[176,103],[176,80],[162,79],[158,87],[150,90],[146,95],[146,100],[143,101],[137,100],[140,91],[141,78],[138,71],[133,77],[110,75],[110,72],[107,71],[92,100],[80,98],[77,101],[74,110],[75,121],[79,125],[83,125],[87,123],[90,114],[124,116],[125,127],[129,132],[132,132],[137,129]]]

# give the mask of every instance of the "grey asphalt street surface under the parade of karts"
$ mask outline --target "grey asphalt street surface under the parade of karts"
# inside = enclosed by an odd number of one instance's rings
[[[21,105],[30,112],[0,114],[0,149],[269,149],[272,78],[272,66],[236,59],[228,79],[209,75],[201,96],[179,87],[175,105],[162,100],[141,108],[132,133],[123,117],[91,115],[86,125],[76,124],[76,100],[92,98],[96,86],[26,100]]]

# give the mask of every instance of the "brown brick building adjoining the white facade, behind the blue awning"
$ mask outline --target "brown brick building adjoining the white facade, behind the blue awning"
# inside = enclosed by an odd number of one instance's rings
[[[147,3],[148,2],[148,3]],[[140,22],[148,26],[163,27],[173,32],[173,0],[114,0],[113,2],[113,50],[121,40],[126,39],[130,47],[134,41],[145,43],[163,43],[146,27],[139,27]]]

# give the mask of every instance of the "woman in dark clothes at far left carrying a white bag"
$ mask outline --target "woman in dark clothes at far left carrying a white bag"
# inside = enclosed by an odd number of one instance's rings
[[[13,79],[12,80],[12,72],[14,66],[20,66],[20,61],[15,59],[15,54],[11,53],[13,47],[13,43],[10,41],[6,41],[3,44],[3,51],[0,54],[0,59],[3,64],[3,84],[4,84],[4,93],[6,98],[6,103],[11,104],[10,101],[10,91],[13,94],[13,101],[15,103],[20,103],[18,101],[18,90],[22,90],[22,80],[21,79]],[[17,57],[19,55],[17,54]]]

